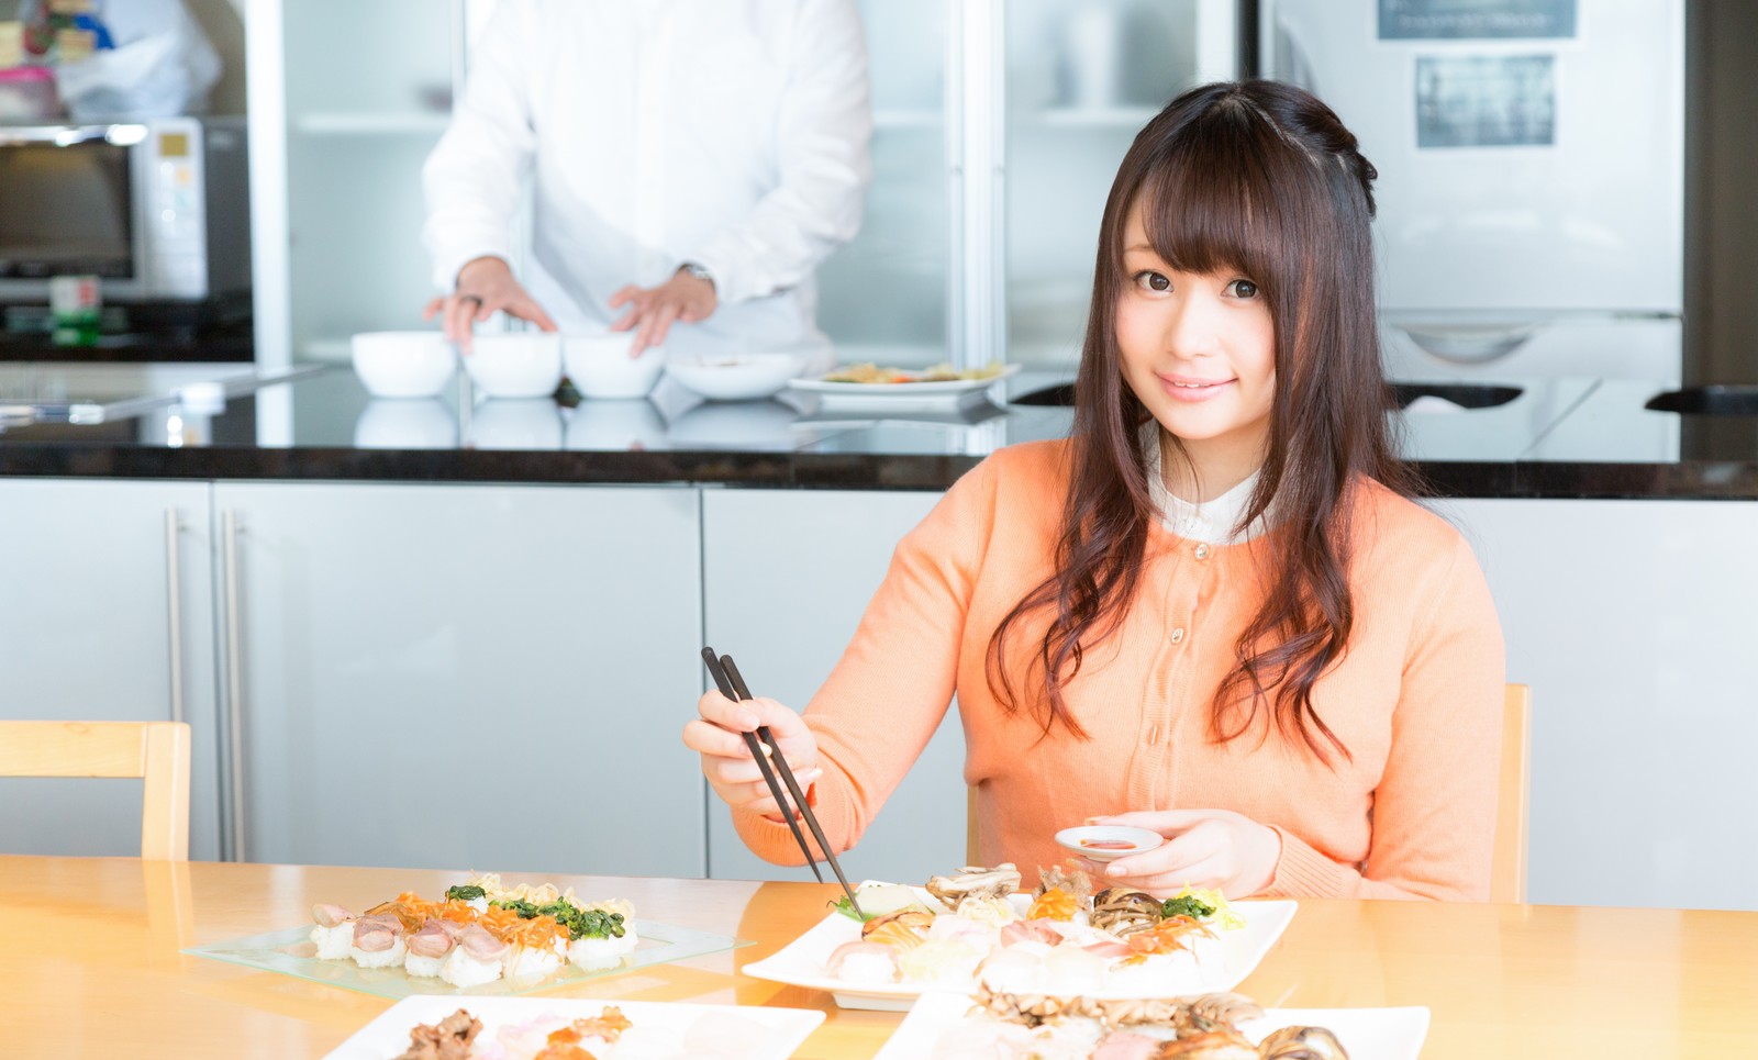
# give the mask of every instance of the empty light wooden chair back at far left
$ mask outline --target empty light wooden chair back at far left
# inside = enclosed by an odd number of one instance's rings
[[[190,726],[181,721],[0,721],[0,777],[144,780],[141,856],[190,860]]]

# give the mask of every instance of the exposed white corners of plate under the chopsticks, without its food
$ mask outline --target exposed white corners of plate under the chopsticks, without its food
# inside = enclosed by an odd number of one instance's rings
[[[928,909],[941,907],[941,904],[928,895],[928,891],[921,888],[914,889]],[[1014,907],[1021,914],[1030,904],[1030,897],[1027,895],[1014,895],[1013,900]],[[1232,932],[1217,932],[1220,944],[1211,953],[1218,953],[1220,960],[1204,960],[1197,965],[1197,977],[1201,983],[1192,988],[1190,993],[1232,990],[1238,986],[1241,979],[1252,974],[1257,962],[1264,960],[1264,955],[1269,953],[1269,947],[1282,937],[1282,932],[1287,930],[1289,921],[1294,919],[1296,904],[1234,902],[1232,909],[1245,918],[1245,926]],[[842,916],[840,912],[832,912],[782,949],[759,962],[745,965],[744,972],[772,983],[788,983],[789,986],[805,986],[807,990],[826,990],[844,1009],[879,1009],[886,1013],[902,1013],[909,1009],[911,1002],[914,1002],[916,997],[926,990],[926,986],[911,983],[847,983],[832,977],[825,969],[830,955],[839,946],[853,942],[860,937],[861,925],[847,916]]]

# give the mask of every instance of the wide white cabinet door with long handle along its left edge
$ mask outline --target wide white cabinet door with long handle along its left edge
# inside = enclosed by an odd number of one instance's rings
[[[243,860],[705,872],[696,490],[220,483],[214,510]]]

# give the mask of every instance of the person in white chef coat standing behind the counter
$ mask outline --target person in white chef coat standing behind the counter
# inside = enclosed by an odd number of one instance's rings
[[[819,343],[814,271],[860,229],[870,137],[853,0],[499,0],[424,171],[427,315],[466,350],[496,311],[628,330],[631,355]]]

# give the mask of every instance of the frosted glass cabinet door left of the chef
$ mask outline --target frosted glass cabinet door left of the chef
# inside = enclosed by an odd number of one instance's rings
[[[420,171],[452,111],[462,0],[251,0],[248,25],[262,360],[346,360],[355,332],[431,327]]]

